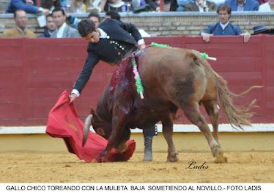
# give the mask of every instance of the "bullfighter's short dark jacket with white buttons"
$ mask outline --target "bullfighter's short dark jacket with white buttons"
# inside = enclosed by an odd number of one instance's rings
[[[108,36],[100,38],[98,43],[90,42],[88,44],[86,63],[73,88],[79,92],[86,86],[92,70],[99,60],[108,64],[119,64],[123,57],[136,49],[136,42],[142,39],[138,29],[131,23],[106,19],[99,25],[99,29],[105,31]]]

